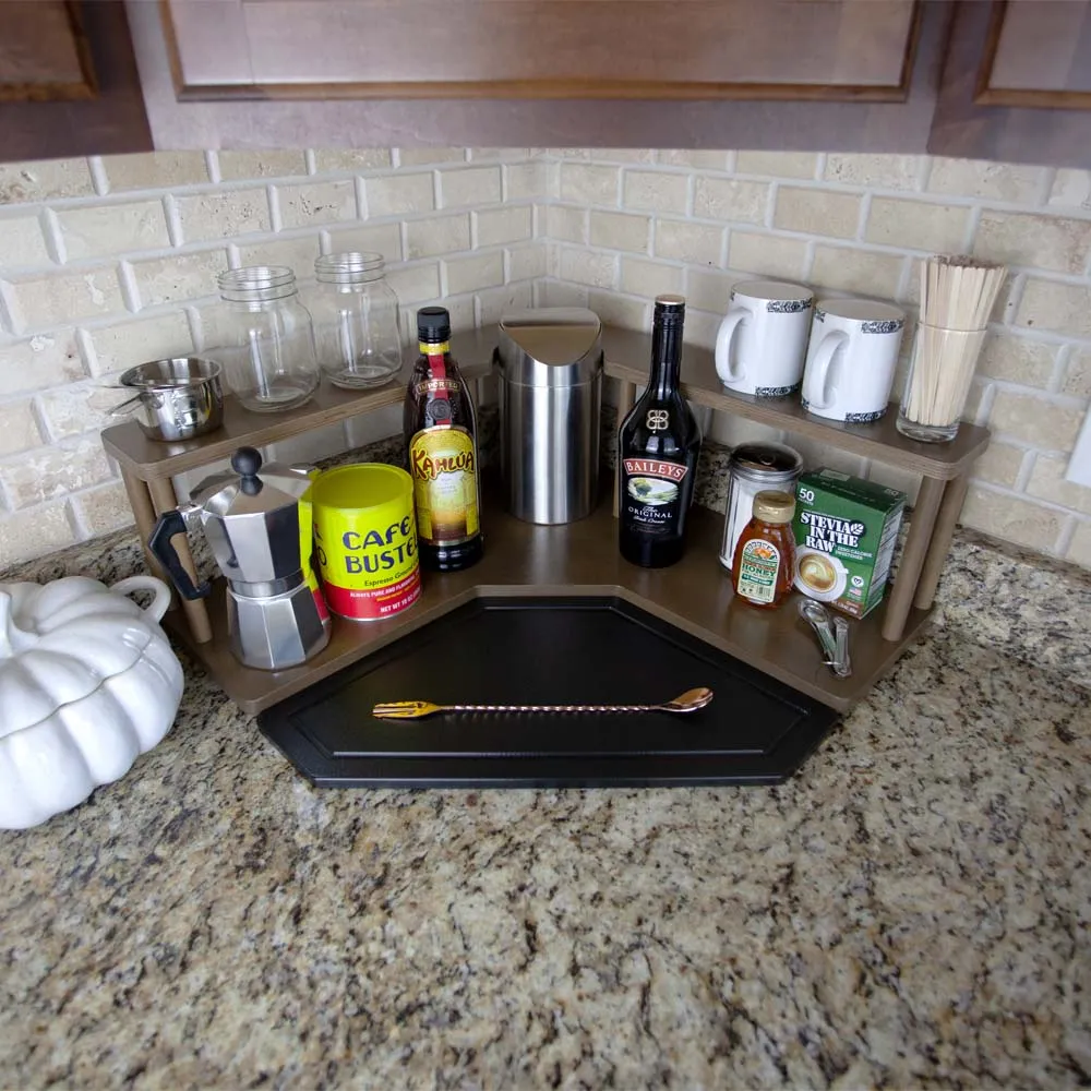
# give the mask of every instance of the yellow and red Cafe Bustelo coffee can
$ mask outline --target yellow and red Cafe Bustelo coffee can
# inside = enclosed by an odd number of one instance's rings
[[[320,473],[310,494],[329,609],[375,621],[412,606],[420,598],[412,478],[381,463],[343,466]]]

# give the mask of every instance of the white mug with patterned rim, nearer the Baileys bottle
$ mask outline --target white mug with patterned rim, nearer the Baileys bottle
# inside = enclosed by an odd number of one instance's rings
[[[811,329],[810,288],[781,280],[744,280],[716,335],[716,373],[729,391],[759,398],[794,394]]]

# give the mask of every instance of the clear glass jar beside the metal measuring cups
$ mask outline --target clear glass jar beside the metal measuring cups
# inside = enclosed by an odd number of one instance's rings
[[[302,405],[317,388],[319,365],[296,274],[252,265],[220,273],[218,283],[223,303],[209,315],[205,340],[236,397],[254,412]]]

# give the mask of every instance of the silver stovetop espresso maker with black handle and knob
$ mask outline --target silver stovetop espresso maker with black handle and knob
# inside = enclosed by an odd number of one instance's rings
[[[303,469],[269,463],[240,447],[231,469],[206,478],[188,504],[159,516],[148,549],[179,595],[200,599],[172,539],[200,516],[205,538],[227,577],[227,627],[235,657],[247,667],[278,671],[317,655],[329,640],[329,613],[311,567],[311,487]]]

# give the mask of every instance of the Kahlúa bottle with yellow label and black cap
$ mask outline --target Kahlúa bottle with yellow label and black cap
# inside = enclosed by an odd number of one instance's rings
[[[420,356],[406,386],[404,429],[424,568],[455,572],[481,559],[477,424],[451,356],[451,315],[417,312]]]

